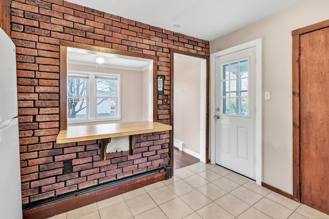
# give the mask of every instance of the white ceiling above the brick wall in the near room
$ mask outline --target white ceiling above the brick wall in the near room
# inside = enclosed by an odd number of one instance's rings
[[[303,0],[67,1],[211,41]]]

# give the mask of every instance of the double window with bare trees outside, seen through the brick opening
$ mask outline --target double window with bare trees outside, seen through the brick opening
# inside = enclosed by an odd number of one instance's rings
[[[68,123],[119,120],[120,75],[68,71]]]

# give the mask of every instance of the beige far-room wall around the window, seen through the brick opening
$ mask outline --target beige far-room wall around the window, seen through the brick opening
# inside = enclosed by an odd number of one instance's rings
[[[114,68],[103,68],[94,66],[84,66],[68,64],[69,70],[81,70],[81,71],[94,71],[94,72],[107,72],[121,75],[121,120],[105,121],[97,123],[118,123],[118,122],[133,122],[143,120],[143,102],[149,101],[149,94],[143,96],[143,82],[142,71],[137,70],[125,70]],[[149,72],[148,70],[146,70]],[[148,77],[147,77],[148,83]],[[147,112],[148,113],[148,112]],[[144,119],[145,120],[145,119]],[[148,119],[146,119],[148,120]],[[83,123],[71,124],[80,125]],[[90,123],[88,123],[90,124]]]

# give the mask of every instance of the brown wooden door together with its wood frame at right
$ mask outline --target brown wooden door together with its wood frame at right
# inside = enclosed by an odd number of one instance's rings
[[[329,21],[293,31],[294,198],[326,214],[329,213],[328,47]]]

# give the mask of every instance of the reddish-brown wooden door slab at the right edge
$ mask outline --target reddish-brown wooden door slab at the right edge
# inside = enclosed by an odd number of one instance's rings
[[[329,28],[300,46],[300,200],[329,213]]]

